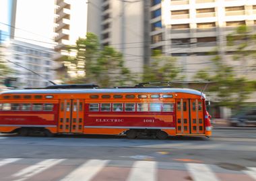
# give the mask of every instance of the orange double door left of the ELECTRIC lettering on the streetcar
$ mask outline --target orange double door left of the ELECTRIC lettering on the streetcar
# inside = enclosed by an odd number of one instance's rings
[[[59,133],[83,133],[84,99],[61,99],[59,107]]]

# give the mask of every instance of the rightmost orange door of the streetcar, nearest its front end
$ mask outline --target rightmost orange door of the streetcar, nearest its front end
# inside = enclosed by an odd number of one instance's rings
[[[201,99],[190,99],[191,105],[191,133],[203,134],[203,101]]]

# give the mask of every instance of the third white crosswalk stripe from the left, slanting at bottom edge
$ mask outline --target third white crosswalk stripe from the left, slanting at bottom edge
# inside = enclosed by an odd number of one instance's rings
[[[96,174],[100,172],[100,170],[102,170],[102,168],[104,168],[104,166],[108,162],[109,160],[89,160],[88,162],[86,162],[82,166],[79,166],[79,168],[68,174],[61,181],[90,180],[91,178],[96,176]]]

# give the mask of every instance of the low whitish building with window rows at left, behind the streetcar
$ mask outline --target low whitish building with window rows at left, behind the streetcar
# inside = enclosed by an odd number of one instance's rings
[[[51,83],[47,80],[55,80],[53,52],[50,48],[28,44],[18,40],[10,40],[5,45],[5,60],[9,60],[9,67],[13,69],[12,78],[17,78],[15,85],[18,88],[44,87]],[[18,65],[20,66],[18,66]],[[21,66],[25,67],[22,68]],[[44,78],[30,72],[40,74]]]

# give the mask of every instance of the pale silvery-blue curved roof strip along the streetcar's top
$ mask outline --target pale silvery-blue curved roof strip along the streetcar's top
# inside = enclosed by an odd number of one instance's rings
[[[86,89],[22,89],[0,93],[5,94],[82,94],[82,93],[188,93],[192,95],[205,94],[190,88],[86,88]]]

